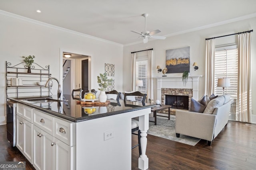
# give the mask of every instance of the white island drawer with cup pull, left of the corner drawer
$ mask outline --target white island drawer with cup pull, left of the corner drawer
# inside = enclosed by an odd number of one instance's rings
[[[44,112],[34,109],[34,125],[53,136],[54,118]]]

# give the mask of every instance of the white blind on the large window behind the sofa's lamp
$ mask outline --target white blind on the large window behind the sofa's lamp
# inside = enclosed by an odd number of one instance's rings
[[[231,98],[236,101],[238,85],[238,49],[215,51],[214,62],[214,94],[223,94],[223,88],[217,87],[218,78],[229,78],[231,86],[224,89],[224,94],[230,94]]]

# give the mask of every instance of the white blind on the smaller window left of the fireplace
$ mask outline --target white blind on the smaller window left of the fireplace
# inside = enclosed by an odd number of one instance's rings
[[[148,57],[136,59],[136,80],[142,80],[143,86],[136,87],[136,91],[147,93],[148,89]]]

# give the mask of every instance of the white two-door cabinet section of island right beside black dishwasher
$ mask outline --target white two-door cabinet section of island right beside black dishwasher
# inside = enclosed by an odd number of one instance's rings
[[[16,116],[16,147],[32,164],[32,108],[17,104]]]

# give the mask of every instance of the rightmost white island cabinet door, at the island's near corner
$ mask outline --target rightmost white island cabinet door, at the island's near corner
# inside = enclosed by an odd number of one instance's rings
[[[55,170],[73,170],[73,147],[70,147],[62,141],[54,138],[55,140],[55,156],[54,166]]]

